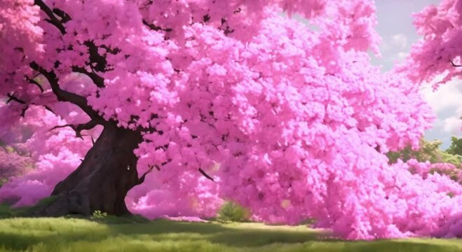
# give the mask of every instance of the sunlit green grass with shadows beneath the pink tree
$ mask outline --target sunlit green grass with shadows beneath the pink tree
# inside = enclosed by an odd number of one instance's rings
[[[461,239],[338,241],[305,226],[182,223],[142,218],[4,218],[0,251],[461,252]]]

